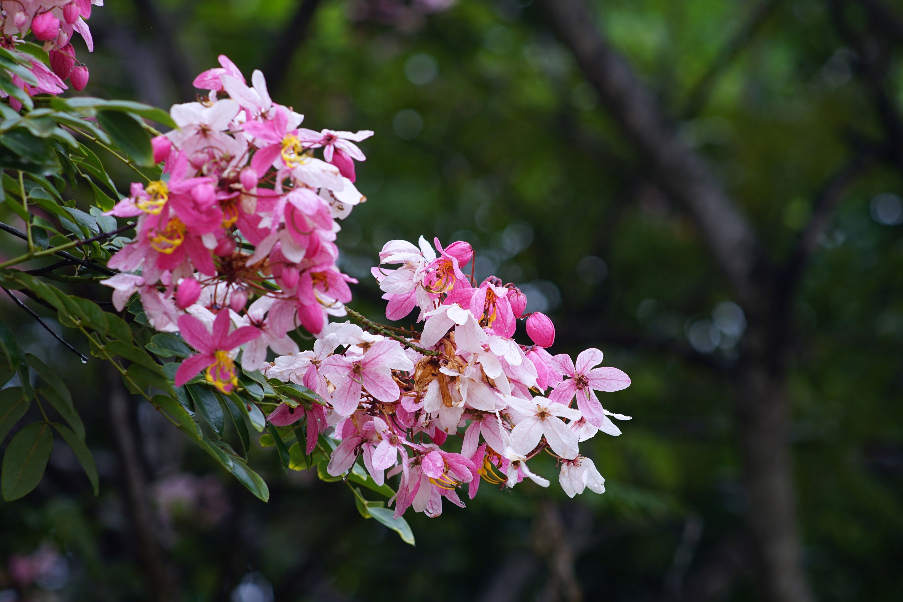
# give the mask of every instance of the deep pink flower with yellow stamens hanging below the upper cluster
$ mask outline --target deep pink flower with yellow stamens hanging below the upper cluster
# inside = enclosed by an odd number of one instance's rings
[[[199,354],[182,362],[175,373],[175,385],[190,381],[194,375],[207,368],[207,382],[212,383],[222,393],[231,393],[238,384],[235,374],[235,362],[231,352],[250,340],[260,336],[260,330],[253,326],[243,326],[232,334],[228,332],[228,310],[220,311],[213,322],[210,333],[204,323],[194,316],[184,315],[179,318],[179,330],[191,347]]]

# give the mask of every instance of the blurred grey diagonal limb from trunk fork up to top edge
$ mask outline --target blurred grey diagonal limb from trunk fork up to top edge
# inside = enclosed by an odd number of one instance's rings
[[[703,158],[669,124],[656,100],[596,29],[585,0],[543,0],[554,27],[621,129],[652,163],[656,179],[694,214],[715,261],[740,299],[761,304],[754,274],[765,263],[749,222]]]

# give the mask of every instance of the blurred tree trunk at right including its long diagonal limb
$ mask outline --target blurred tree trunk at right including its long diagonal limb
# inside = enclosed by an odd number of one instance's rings
[[[543,4],[603,104],[646,156],[656,182],[693,216],[714,263],[747,314],[749,330],[740,357],[735,408],[759,583],[768,600],[809,602],[813,597],[800,555],[784,367],[788,301],[795,282],[784,282],[782,270],[768,261],[749,220],[627,61],[611,49],[586,1]],[[829,190],[833,196],[828,200],[836,201],[842,187]],[[822,227],[823,223],[815,224],[806,228],[806,234],[815,240]],[[811,253],[811,246],[801,248],[800,266]]]

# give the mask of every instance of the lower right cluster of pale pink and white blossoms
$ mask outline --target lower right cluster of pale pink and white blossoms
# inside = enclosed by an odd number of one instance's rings
[[[435,250],[423,237],[419,245],[386,243],[381,263],[401,264],[373,268],[386,316],[399,320],[417,308],[423,332],[397,336],[377,327],[373,334],[332,323],[312,351],[277,357],[265,369],[324,401],[303,412],[283,403],[269,420],[288,426],[306,419],[307,453],[321,431],[340,441],[330,475],[345,473],[358,457],[377,484],[401,475],[396,516],[409,507],[436,516],[442,497],[463,506],[458,487],[468,484],[472,499],[480,479],[511,487],[527,477],[548,486],[527,467],[543,450],[561,463],[565,493],[573,497],[587,486],[601,493],[604,481],[579,443],[598,431],[620,434],[610,416],[629,420],[603,409],[595,393],[626,388],[628,375],[594,367],[602,361],[599,349],[583,351],[576,363],[549,354],[552,321],[526,315],[526,296],[513,284],[494,276],[473,282],[461,271],[472,256],[464,242],[442,248],[435,240]],[[534,345],[513,338],[522,318]],[[460,453],[443,449],[458,436]]]

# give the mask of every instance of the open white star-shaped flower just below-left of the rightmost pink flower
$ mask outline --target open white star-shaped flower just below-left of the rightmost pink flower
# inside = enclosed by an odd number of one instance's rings
[[[528,402],[525,399],[508,396],[507,402],[514,410],[526,416],[511,431],[511,445],[514,449],[522,454],[528,454],[545,435],[545,441],[556,454],[567,459],[577,457],[580,451],[577,433],[557,417],[579,420],[579,410],[562,403],[550,403],[545,397],[534,397],[532,402]]]

